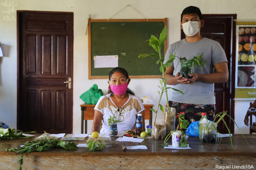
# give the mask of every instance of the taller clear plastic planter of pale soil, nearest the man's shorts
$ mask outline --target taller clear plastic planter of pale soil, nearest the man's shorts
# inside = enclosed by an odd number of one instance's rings
[[[162,114],[162,123],[166,126],[166,134],[169,134],[171,131],[175,130],[175,108],[165,107],[165,112]]]

